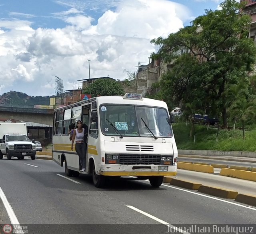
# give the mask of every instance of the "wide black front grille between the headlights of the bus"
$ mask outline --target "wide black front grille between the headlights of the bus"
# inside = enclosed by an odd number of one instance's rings
[[[160,165],[161,155],[152,154],[120,154],[119,163],[122,165],[143,164],[143,165]]]

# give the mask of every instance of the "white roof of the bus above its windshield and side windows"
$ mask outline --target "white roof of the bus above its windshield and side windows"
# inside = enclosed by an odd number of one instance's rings
[[[66,109],[72,106],[79,106],[83,103],[92,102],[92,101],[97,101],[98,106],[100,106],[101,104],[126,104],[126,105],[141,105],[141,106],[158,106],[158,107],[167,109],[166,102],[151,99],[151,98],[127,99],[127,98],[124,98],[123,96],[99,96],[99,97],[90,98],[88,100],[82,100],[80,102],[76,102],[68,106],[56,108],[54,111]]]

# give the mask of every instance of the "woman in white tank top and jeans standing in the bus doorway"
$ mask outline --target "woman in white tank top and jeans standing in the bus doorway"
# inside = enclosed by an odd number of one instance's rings
[[[85,172],[85,166],[86,166],[86,142],[84,142],[84,131],[85,129],[82,128],[82,121],[78,120],[77,121],[77,128],[73,132],[73,137],[72,137],[72,144],[71,144],[71,150],[73,150],[73,144],[74,141],[76,140],[76,152],[79,156],[80,163],[82,166],[82,170],[80,172]]]

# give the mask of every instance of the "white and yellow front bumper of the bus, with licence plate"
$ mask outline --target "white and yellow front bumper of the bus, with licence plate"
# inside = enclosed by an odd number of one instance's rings
[[[103,176],[176,176],[177,166],[98,164]]]

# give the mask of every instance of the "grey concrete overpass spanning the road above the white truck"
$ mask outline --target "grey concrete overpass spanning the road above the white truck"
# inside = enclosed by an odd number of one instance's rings
[[[53,110],[0,106],[0,117],[52,126]]]

